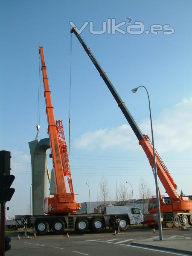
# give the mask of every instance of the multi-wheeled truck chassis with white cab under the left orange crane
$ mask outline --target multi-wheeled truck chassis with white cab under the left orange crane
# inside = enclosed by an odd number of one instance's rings
[[[143,222],[143,215],[139,207],[106,206],[102,213],[91,214],[59,214],[59,215],[16,215],[24,225],[34,226],[38,234],[45,234],[49,230],[54,233],[62,233],[66,229],[75,229],[85,233],[88,229],[101,232],[106,227],[117,228],[119,222],[120,230],[127,230],[130,225]]]

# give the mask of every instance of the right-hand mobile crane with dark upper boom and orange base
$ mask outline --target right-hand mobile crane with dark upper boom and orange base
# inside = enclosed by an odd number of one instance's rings
[[[139,126],[137,125],[134,118],[132,117],[131,113],[128,111],[128,108],[126,107],[125,102],[123,102],[122,99],[120,98],[119,94],[113,87],[113,84],[109,80],[104,70],[102,70],[102,67],[99,65],[98,61],[94,57],[93,53],[90,51],[89,47],[85,44],[81,35],[78,34],[76,27],[73,27],[70,32],[76,35],[77,39],[81,43],[85,52],[87,53],[87,55],[93,62],[94,66],[98,70],[100,76],[102,77],[105,84],[107,85],[108,89],[111,91],[111,94],[116,100],[118,107],[121,109],[129,125],[134,131],[134,134],[139,140],[139,144],[142,146],[150,165],[152,166],[152,168],[154,168],[153,147],[148,135],[144,135],[142,133]],[[176,190],[177,185],[175,184],[175,181],[173,180],[172,176],[170,175],[168,169],[166,168],[165,164],[161,160],[156,150],[155,150],[155,157],[156,157],[156,164],[157,164],[157,175],[161,183],[163,184],[166,190],[166,193],[170,197],[169,204],[166,204],[166,202],[163,200],[162,196],[160,195],[160,210],[163,215],[163,221],[170,221],[173,219],[183,217],[183,223],[185,225],[188,224],[188,221],[189,221],[189,224],[192,225],[192,201],[189,200],[189,197],[183,197],[178,195]],[[149,202],[148,210],[150,213],[154,213],[154,212],[157,213],[156,201],[157,199],[154,198],[154,199],[151,199],[151,201]],[[157,224],[157,221],[155,221],[153,214],[151,215],[149,214],[147,217],[148,217],[147,224],[150,224],[150,225]],[[175,221],[175,225],[178,225],[178,221]]]

